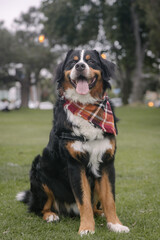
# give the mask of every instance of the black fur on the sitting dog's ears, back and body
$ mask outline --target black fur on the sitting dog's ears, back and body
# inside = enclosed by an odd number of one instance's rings
[[[57,68],[56,81],[58,82],[58,90],[65,81],[64,70],[71,69],[69,59],[73,57],[74,53],[75,51],[73,50],[69,51],[66,59]],[[77,54],[79,54],[78,51]],[[109,79],[114,74],[114,64],[102,59],[97,51],[86,51],[86,54],[90,54],[94,59],[91,67],[101,71],[103,78],[102,91],[105,91],[106,88],[110,87]],[[62,133],[72,134],[73,131],[73,124],[68,121],[63,105],[63,98],[58,97],[54,107],[54,122],[50,132],[49,142],[43,150],[42,156],[38,155],[32,163],[30,171],[31,188],[29,191],[26,191],[23,199],[23,202],[28,204],[29,211],[35,212],[38,215],[42,214],[42,210],[47,201],[47,195],[44,192],[43,185],[47,185],[53,192],[56,201],[59,203],[59,212],[66,214],[67,210],[64,203],[75,203],[75,196],[81,204],[83,203],[80,176],[81,169],[84,169],[86,172],[91,190],[94,189],[94,181],[97,178],[88,166],[89,154],[83,154],[81,157],[77,156],[77,161],[70,155],[66,148],[68,141],[60,137]],[[104,135],[109,139],[114,138],[111,134],[105,133]],[[103,155],[102,163],[99,167],[99,174],[101,175],[104,170],[109,176],[115,198],[114,155]],[[91,192],[93,197],[93,191]],[[53,207],[52,210],[56,212],[56,209]]]

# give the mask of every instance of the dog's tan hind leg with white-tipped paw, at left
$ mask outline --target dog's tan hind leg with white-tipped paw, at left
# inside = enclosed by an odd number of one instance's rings
[[[51,211],[51,208],[55,201],[53,192],[47,187],[47,185],[43,185],[43,189],[47,195],[47,201],[42,210],[43,219],[47,222],[58,221],[58,215]]]

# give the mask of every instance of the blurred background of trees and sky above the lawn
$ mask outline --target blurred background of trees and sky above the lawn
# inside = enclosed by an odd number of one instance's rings
[[[160,1],[0,0],[0,110],[50,109],[70,48],[96,49],[119,72],[116,106],[160,107]]]

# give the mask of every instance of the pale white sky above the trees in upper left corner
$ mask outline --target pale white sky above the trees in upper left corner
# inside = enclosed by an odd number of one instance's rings
[[[12,29],[12,23],[21,12],[27,12],[29,7],[39,7],[41,0],[0,0],[0,21],[5,22],[5,27]]]

